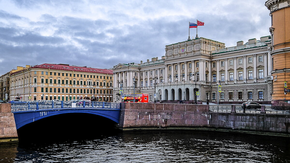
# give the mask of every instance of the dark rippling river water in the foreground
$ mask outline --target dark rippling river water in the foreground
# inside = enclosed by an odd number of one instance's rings
[[[125,131],[0,144],[0,162],[290,162],[290,141],[212,131]]]

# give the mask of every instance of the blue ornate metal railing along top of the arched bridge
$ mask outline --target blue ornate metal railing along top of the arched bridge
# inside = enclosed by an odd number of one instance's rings
[[[29,103],[12,103],[11,111],[26,111],[53,108],[98,108],[98,109],[120,109],[120,103],[117,102],[29,102]]]

